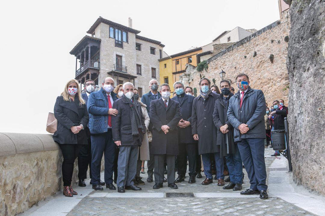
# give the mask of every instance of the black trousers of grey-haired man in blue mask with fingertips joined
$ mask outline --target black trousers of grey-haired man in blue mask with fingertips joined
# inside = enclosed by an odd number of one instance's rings
[[[178,144],[179,155],[176,157],[177,174],[185,176],[187,165],[186,159],[188,158],[188,171],[189,175],[196,175],[197,171],[197,155],[198,144],[197,143],[179,143]],[[201,160],[200,160],[201,169]]]

